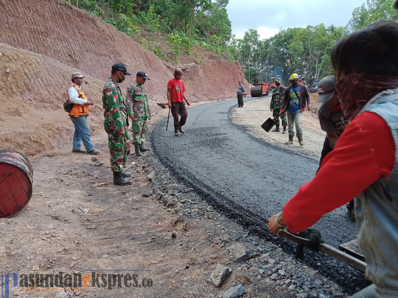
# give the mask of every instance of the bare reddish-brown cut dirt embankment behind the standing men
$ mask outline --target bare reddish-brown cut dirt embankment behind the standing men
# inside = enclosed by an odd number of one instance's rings
[[[18,12],[18,13],[16,13]],[[152,110],[166,101],[173,70],[114,27],[62,1],[0,0],[0,149],[27,155],[54,149],[72,138],[73,125],[62,109],[70,73],[86,75],[84,91],[92,133],[102,130],[101,89],[111,65],[124,62],[133,74],[145,70]],[[184,70],[191,102],[211,101],[236,92],[243,78],[237,62],[209,60]]]

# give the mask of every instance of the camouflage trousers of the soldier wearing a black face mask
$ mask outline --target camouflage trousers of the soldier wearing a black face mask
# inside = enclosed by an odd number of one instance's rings
[[[117,132],[108,134],[109,153],[111,155],[111,170],[121,172],[126,165],[127,156],[130,154],[130,137],[127,129],[125,136],[121,137]]]

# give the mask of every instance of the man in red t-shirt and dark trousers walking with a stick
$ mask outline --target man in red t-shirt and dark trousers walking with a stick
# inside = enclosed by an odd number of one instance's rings
[[[184,101],[187,105],[191,105],[185,97],[185,86],[184,82],[181,81],[183,72],[180,68],[174,71],[174,79],[170,79],[167,83],[167,101],[169,108],[171,108],[172,115],[174,118],[174,135],[179,137],[180,133],[184,134],[182,126],[187,121],[188,111]],[[178,115],[181,118],[178,120]]]

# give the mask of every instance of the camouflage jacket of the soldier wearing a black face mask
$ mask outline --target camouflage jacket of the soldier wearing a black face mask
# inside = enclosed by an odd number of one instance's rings
[[[127,106],[123,99],[119,84],[111,77],[102,89],[102,107],[104,109],[103,126],[105,132],[121,132],[125,130]]]

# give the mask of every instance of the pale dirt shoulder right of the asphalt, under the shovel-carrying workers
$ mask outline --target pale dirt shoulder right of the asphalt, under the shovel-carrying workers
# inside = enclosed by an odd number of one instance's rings
[[[302,114],[305,145],[300,147],[297,137],[294,138],[293,145],[285,145],[285,142],[289,138],[288,134],[282,134],[282,130],[281,132],[267,133],[261,128],[261,124],[268,117],[272,118],[272,112],[269,110],[270,102],[271,97],[247,101],[244,104],[244,108],[233,108],[230,118],[234,124],[255,137],[289,151],[294,151],[300,155],[319,160],[326,133],[321,130],[319,125],[316,113],[318,104],[313,104],[312,111],[315,112],[306,111]],[[312,102],[314,103],[315,101]]]

